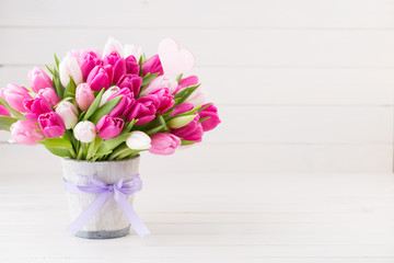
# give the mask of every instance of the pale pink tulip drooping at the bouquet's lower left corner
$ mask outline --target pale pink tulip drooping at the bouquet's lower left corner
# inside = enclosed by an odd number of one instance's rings
[[[18,121],[10,130],[12,140],[21,145],[37,145],[37,140],[45,139],[39,127],[31,121]]]

